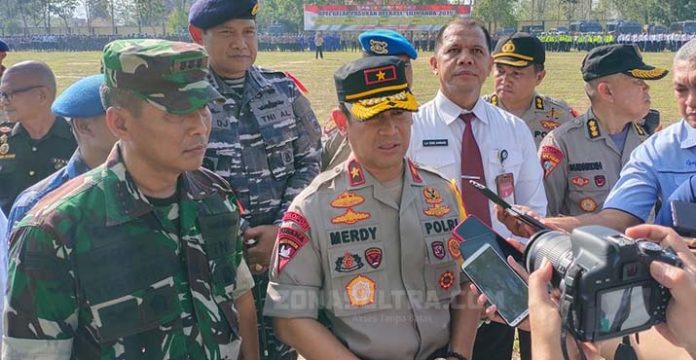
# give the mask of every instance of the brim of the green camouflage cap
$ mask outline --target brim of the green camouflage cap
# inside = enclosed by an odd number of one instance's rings
[[[144,100],[170,114],[186,115],[225,98],[207,80],[201,80],[178,91],[144,95]]]

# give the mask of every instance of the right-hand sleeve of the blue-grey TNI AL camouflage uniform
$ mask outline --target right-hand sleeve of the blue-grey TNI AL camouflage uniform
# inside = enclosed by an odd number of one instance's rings
[[[292,104],[298,120],[299,136],[293,143],[295,173],[288,179],[285,194],[276,213],[276,223],[290,206],[292,200],[319,174],[321,168],[321,127],[309,100],[295,89],[297,97]]]

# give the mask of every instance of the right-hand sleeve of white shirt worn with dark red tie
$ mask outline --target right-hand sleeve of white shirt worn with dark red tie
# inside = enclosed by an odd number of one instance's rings
[[[520,149],[522,150],[523,163],[515,184],[516,202],[530,207],[539,215],[546,214],[546,193],[544,192],[544,178],[536,156],[536,144],[532,133],[526,127],[517,133]]]

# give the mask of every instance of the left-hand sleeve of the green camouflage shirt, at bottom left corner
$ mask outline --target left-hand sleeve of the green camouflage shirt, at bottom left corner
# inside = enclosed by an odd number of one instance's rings
[[[12,237],[3,359],[69,359],[77,328],[71,249],[36,227]]]

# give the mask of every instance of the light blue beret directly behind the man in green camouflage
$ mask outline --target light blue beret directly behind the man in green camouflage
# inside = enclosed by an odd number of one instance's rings
[[[65,89],[51,105],[51,111],[67,118],[89,118],[104,115],[106,111],[99,97],[104,75],[82,78]]]

